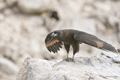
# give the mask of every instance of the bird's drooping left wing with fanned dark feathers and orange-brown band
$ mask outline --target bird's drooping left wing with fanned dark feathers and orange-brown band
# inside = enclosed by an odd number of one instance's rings
[[[62,42],[59,41],[58,39],[46,39],[45,40],[45,44],[47,49],[53,53],[56,53],[57,51],[60,50],[60,48],[62,48]]]

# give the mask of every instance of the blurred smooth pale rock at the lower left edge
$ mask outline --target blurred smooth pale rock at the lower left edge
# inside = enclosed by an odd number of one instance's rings
[[[18,67],[9,60],[0,58],[0,71],[13,75],[18,72]]]

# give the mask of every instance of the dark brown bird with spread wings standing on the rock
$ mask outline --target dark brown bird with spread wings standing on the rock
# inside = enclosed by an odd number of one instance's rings
[[[117,50],[109,43],[100,40],[99,38],[97,38],[92,34],[88,34],[86,32],[82,32],[78,30],[72,30],[72,29],[56,30],[49,33],[45,39],[45,44],[47,49],[53,53],[59,51],[60,48],[62,48],[62,44],[64,44],[64,47],[67,51],[67,59],[68,59],[70,46],[72,46],[73,60],[75,53],[79,51],[79,44],[81,43],[85,43],[102,50],[107,50],[117,53]]]

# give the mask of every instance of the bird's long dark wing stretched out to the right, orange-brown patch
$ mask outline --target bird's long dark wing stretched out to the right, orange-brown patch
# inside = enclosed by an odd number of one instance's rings
[[[98,39],[96,36],[85,32],[76,33],[74,35],[74,39],[102,50],[117,52],[117,50],[109,43],[106,43],[105,41]]]

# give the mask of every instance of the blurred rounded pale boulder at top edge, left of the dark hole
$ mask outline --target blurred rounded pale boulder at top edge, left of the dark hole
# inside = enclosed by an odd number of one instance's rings
[[[50,8],[50,0],[19,0],[18,6],[25,13],[42,13]]]

